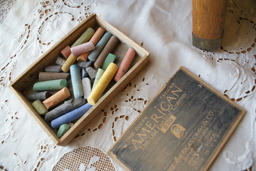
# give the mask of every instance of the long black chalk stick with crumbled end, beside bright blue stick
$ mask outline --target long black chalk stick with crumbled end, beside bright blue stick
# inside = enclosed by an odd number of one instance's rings
[[[45,117],[45,122],[51,122],[52,120],[74,110],[86,103],[86,100],[82,97],[65,101],[62,105],[49,111]]]

